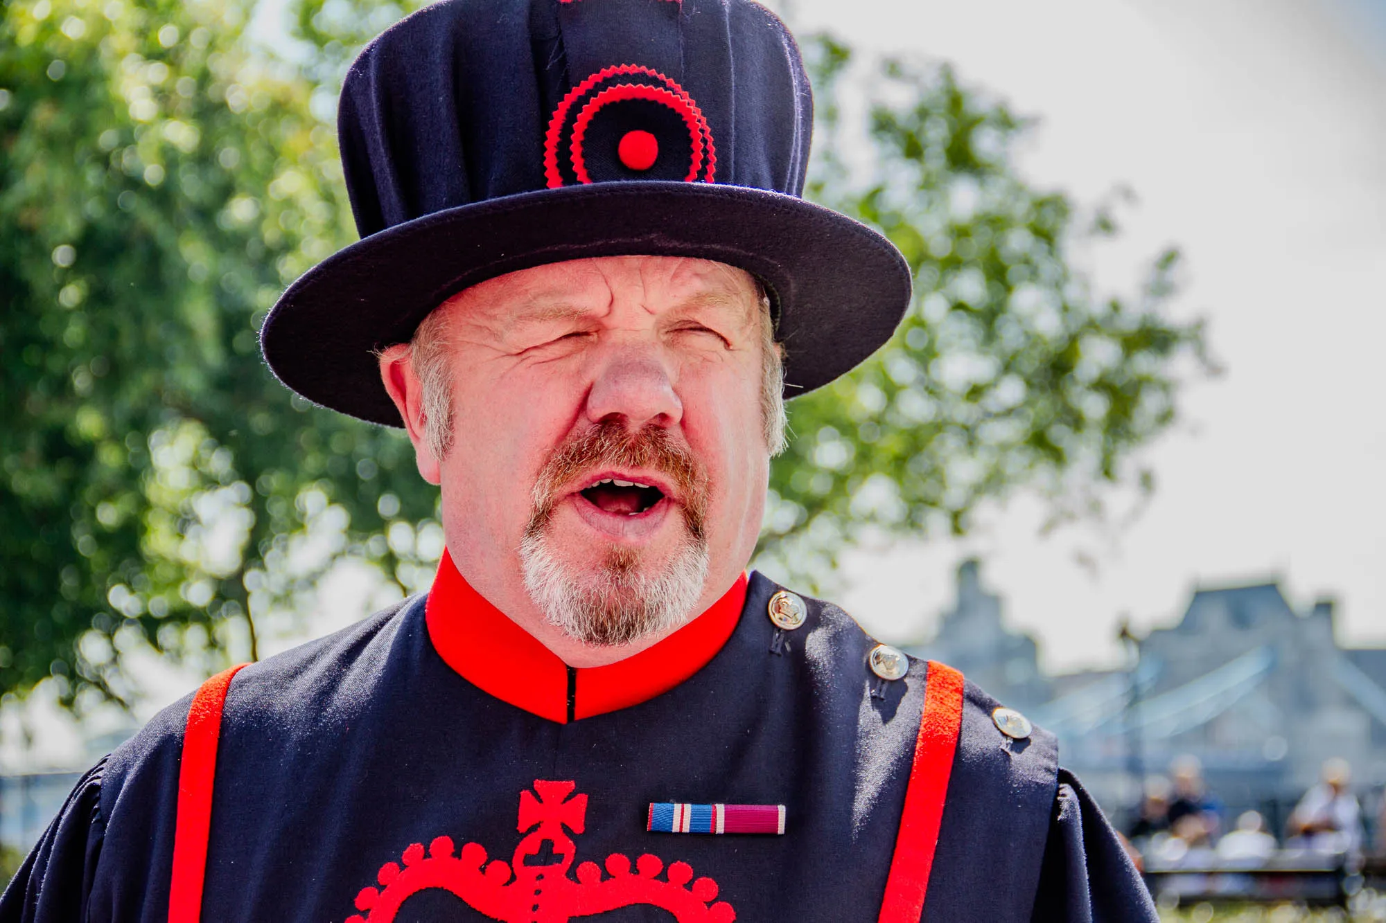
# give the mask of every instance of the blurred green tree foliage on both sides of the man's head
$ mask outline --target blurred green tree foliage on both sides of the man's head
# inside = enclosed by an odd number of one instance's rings
[[[3,690],[53,676],[68,701],[122,700],[132,644],[254,650],[251,617],[334,561],[414,588],[439,549],[407,441],[291,398],[255,337],[353,237],[320,103],[402,10],[304,0],[276,55],[247,39],[252,7],[0,12]],[[1134,299],[1092,299],[1067,263],[1073,206],[1017,179],[1020,123],[947,69],[887,67],[905,101],[873,108],[870,170],[848,170],[847,53],[815,49],[811,194],[890,234],[919,298],[877,358],[791,405],[762,552],[802,571],[861,524],[963,529],[1020,485],[1070,502],[1119,481],[1200,344],[1160,313],[1175,255]]]

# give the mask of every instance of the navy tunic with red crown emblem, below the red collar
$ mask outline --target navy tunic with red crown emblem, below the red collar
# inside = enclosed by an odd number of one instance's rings
[[[687,679],[574,721],[459,675],[424,597],[243,669],[222,719],[202,919],[509,919],[516,869],[538,861],[563,880],[521,919],[876,920],[926,664],[877,679],[875,642],[816,600],[776,639],[778,589],[753,574],[726,643]],[[1002,735],[997,705],[966,686],[923,919],[1155,920],[1053,737]],[[168,917],[188,708],[83,776],[0,898],[0,923]],[[784,833],[647,832],[649,805],[665,801],[782,804]],[[536,818],[559,836],[547,856],[520,855]],[[611,902],[603,883],[631,902],[595,912]]]

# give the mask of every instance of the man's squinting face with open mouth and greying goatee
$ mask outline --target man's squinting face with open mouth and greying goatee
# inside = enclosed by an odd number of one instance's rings
[[[747,273],[582,259],[441,310],[453,439],[441,460],[416,445],[442,485],[448,547],[484,596],[506,611],[527,596],[568,635],[621,644],[730,586],[769,470],[764,308]]]

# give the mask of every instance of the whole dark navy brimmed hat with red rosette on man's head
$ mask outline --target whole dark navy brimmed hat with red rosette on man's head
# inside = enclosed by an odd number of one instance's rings
[[[585,256],[701,256],[757,276],[786,396],[872,353],[909,304],[890,241],[800,198],[812,96],[748,0],[444,0],[362,51],[342,166],[362,240],[261,331],[309,401],[399,425],[373,351],[467,285]]]

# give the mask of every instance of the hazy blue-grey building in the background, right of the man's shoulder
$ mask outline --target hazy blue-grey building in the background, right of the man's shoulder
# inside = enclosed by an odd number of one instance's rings
[[[1386,784],[1386,650],[1340,647],[1331,600],[1296,611],[1277,583],[1199,589],[1137,647],[1131,669],[1045,676],[967,561],[952,611],[911,653],[1058,733],[1063,764],[1117,812],[1179,754],[1202,761],[1229,818],[1256,808],[1277,830],[1325,758],[1351,764],[1357,791]]]

